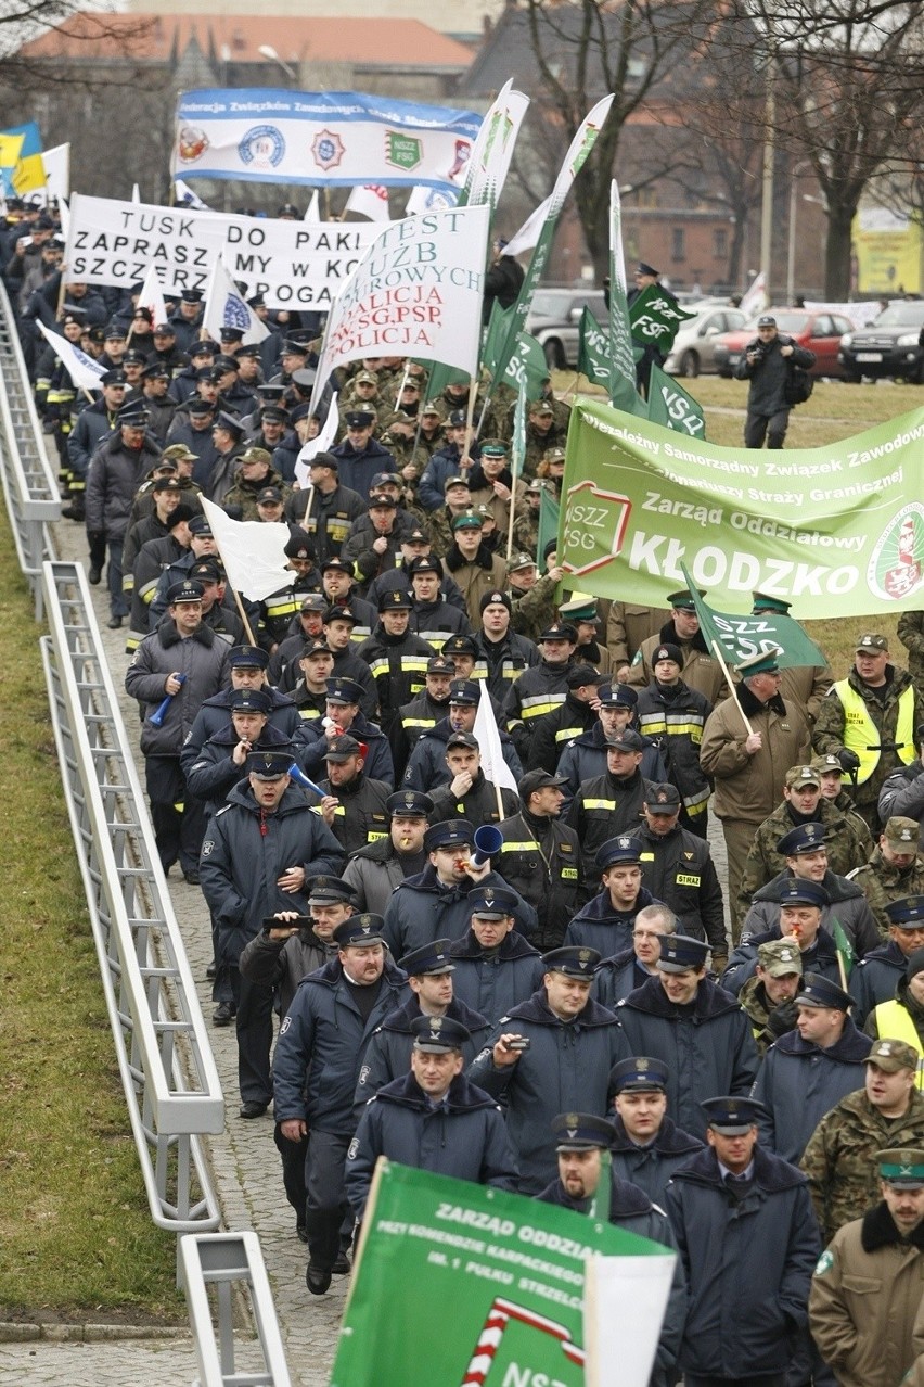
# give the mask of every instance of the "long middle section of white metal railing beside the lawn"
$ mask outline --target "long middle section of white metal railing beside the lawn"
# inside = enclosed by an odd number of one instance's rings
[[[79,565],[44,565],[42,641],[61,779],[100,957],[122,1085],[151,1215],[215,1229],[197,1137],[224,1128],[224,1099],[141,785]],[[198,1186],[198,1197],[194,1189]]]

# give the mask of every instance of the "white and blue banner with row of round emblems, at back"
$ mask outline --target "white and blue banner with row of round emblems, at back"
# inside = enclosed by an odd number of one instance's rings
[[[183,92],[175,179],[461,187],[481,117],[362,92]]]

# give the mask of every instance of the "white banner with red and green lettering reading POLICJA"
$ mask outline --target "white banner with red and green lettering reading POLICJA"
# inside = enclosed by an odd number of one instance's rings
[[[478,369],[488,207],[406,216],[380,232],[331,305],[314,383],[360,356]]]

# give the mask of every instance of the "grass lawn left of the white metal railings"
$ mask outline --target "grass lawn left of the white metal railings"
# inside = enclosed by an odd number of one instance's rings
[[[61,791],[39,627],[0,512],[0,1319],[186,1320],[141,1183]]]

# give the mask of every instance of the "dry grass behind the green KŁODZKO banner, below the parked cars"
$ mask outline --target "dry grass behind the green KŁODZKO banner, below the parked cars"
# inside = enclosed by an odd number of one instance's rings
[[[574,372],[557,372],[553,377],[556,394],[574,390]],[[702,405],[709,442],[726,448],[744,448],[744,413],[748,398],[745,381],[722,380],[719,376],[698,376],[680,384]],[[580,388],[587,394],[601,394],[580,377]],[[567,397],[571,398],[571,397]],[[896,415],[924,409],[924,390],[920,386],[881,384],[846,386],[841,381],[816,381],[812,398],[798,405],[790,415],[787,447],[819,448],[849,438]],[[798,612],[794,613],[798,617]],[[905,664],[905,646],[895,637],[898,616],[862,616],[826,621],[806,621],[809,635],[826,651],[835,675],[846,673],[853,659],[853,642],[862,631],[881,631],[891,642],[896,664]]]

